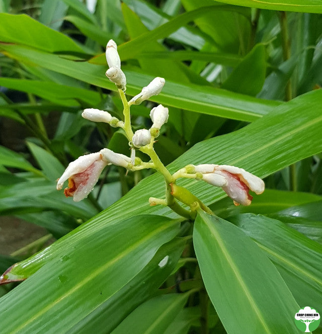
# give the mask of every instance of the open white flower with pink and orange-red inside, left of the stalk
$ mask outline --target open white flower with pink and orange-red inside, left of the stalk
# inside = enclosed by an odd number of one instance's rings
[[[100,152],[80,156],[68,164],[57,182],[57,190],[62,189],[64,182],[68,180],[65,196],[72,196],[75,202],[83,200],[93,190],[107,164]]]

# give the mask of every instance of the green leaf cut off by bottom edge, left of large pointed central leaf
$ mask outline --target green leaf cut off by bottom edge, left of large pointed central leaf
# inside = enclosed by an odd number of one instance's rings
[[[128,315],[112,334],[164,334],[177,313],[183,309],[189,293],[170,293],[147,300]]]

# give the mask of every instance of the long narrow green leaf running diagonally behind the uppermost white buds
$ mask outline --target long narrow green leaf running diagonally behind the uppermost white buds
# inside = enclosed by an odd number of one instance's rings
[[[27,47],[0,44],[4,54],[22,62],[41,63],[41,66],[64,73],[91,85],[116,91],[116,86],[106,79],[106,67],[89,63],[79,63],[63,59],[54,54],[44,53]],[[125,70],[127,94],[138,94],[153,77],[132,70]],[[150,98],[151,101],[187,109],[199,113],[253,121],[269,113],[280,102],[260,100],[221,89],[198,85],[182,85],[167,80],[162,93]]]

